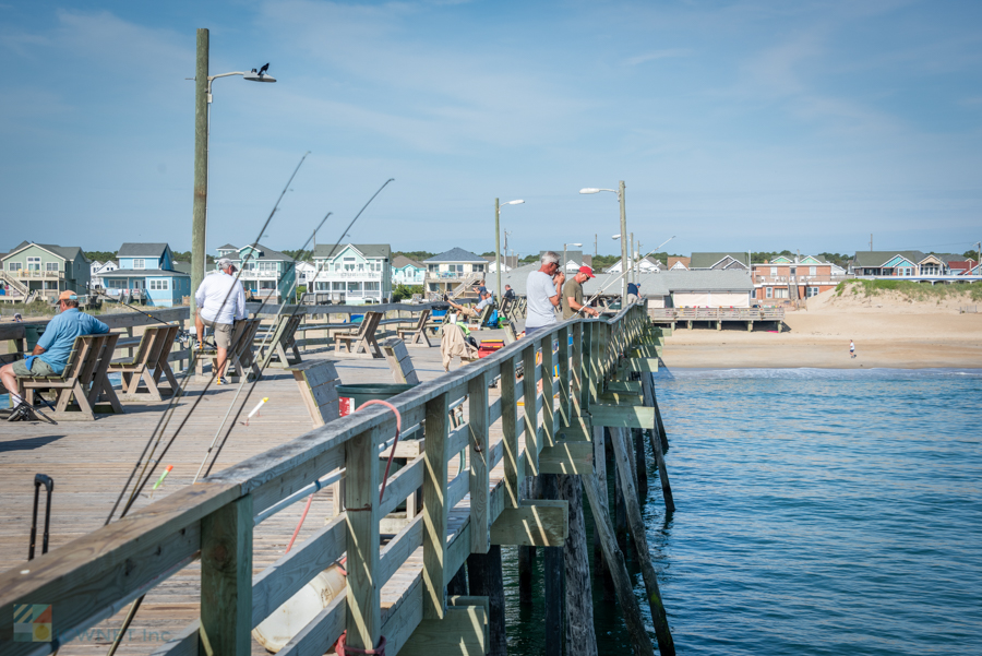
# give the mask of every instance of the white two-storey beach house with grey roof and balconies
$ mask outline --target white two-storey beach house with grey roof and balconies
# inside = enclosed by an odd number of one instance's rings
[[[310,291],[330,293],[331,301],[360,306],[392,298],[392,247],[387,243],[318,244],[318,267]]]

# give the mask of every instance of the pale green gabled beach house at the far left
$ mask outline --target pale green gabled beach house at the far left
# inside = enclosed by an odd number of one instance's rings
[[[22,241],[0,258],[0,279],[12,296],[57,298],[64,290],[85,294],[92,272],[77,246]]]

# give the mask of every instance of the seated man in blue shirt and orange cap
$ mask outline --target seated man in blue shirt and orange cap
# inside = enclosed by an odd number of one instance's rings
[[[79,311],[79,297],[74,291],[62,291],[58,297],[61,313],[48,322],[45,334],[37,341],[34,351],[24,360],[11,362],[0,368],[0,381],[10,392],[14,412],[10,421],[31,419],[32,409],[17,394],[17,377],[61,375],[68,365],[69,355],[81,335],[101,335],[109,332],[109,326],[88,314]]]

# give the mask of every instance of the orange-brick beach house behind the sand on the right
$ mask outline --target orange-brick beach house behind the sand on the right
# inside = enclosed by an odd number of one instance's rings
[[[846,279],[846,270],[815,255],[778,255],[753,264],[754,299],[761,306],[818,296]]]

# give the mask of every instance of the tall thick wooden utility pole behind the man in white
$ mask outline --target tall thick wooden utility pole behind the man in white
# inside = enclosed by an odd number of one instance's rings
[[[194,205],[191,211],[191,321],[194,293],[204,279],[205,212],[208,202],[208,31],[197,31],[197,67],[194,71]]]

